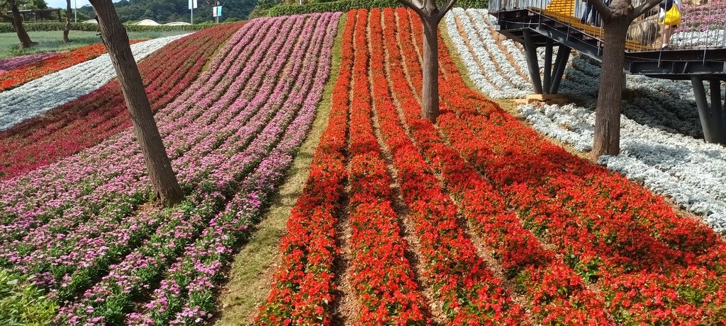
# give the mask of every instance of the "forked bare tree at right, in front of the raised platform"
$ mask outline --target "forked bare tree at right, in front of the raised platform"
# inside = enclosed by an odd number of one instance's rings
[[[661,0],[647,0],[637,8],[633,7],[632,0],[612,0],[610,7],[602,0],[587,1],[600,13],[605,31],[600,89],[595,110],[595,139],[592,144],[592,159],[596,160],[600,155],[620,153],[621,92],[628,27],[635,18],[648,12]]]

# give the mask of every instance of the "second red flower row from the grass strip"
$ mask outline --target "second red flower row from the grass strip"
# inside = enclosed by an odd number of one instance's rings
[[[417,291],[413,269],[405,256],[407,243],[401,237],[391,199],[391,176],[380,156],[380,146],[371,121],[368,80],[368,11],[360,9],[354,36],[353,94],[349,155],[351,225],[351,285],[362,304],[362,325],[419,325],[428,322],[425,298]],[[375,22],[378,22],[376,24]],[[371,33],[380,37],[380,10],[371,13]],[[377,34],[378,33],[378,34]],[[380,40],[373,40],[375,48]],[[371,65],[382,64],[372,57]],[[374,86],[375,87],[375,86]],[[375,96],[378,106],[378,96]]]

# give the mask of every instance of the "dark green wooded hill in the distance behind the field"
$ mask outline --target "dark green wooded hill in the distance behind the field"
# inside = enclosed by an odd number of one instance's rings
[[[194,9],[194,22],[212,22],[213,0],[197,0],[197,9]],[[208,2],[209,1],[209,2]],[[257,0],[219,0],[222,4],[224,20],[246,20],[248,14],[256,6]],[[166,22],[189,22],[188,0],[121,0],[113,4],[116,7],[121,22],[136,22],[150,19],[161,24]],[[95,17],[91,6],[78,8],[78,13],[87,17]]]

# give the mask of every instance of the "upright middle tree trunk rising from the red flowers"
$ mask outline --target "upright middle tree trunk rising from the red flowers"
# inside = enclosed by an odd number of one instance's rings
[[[439,117],[439,22],[436,17],[421,17],[423,22],[423,91],[421,115],[436,123]]]

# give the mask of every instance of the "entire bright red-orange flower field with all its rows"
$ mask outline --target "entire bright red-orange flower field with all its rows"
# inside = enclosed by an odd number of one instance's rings
[[[471,91],[445,46],[439,122],[420,119],[420,21],[347,15],[258,324],[726,322],[713,230]]]

